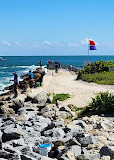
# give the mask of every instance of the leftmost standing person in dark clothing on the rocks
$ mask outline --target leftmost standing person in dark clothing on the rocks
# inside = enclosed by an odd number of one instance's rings
[[[13,75],[14,75],[14,79],[10,80],[10,81],[14,81],[14,85],[13,85],[14,86],[14,96],[17,97],[18,96],[17,88],[18,88],[18,85],[19,85],[18,76],[17,76],[16,72],[13,72]]]

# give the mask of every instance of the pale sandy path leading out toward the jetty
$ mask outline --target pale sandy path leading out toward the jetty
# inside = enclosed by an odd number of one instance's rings
[[[71,98],[66,100],[64,104],[83,107],[91,101],[92,97],[95,97],[96,93],[101,91],[114,93],[114,86],[77,81],[76,75],[66,70],[60,70],[58,74],[53,72],[53,76],[52,72],[53,71],[49,71],[48,74],[44,76],[43,87],[32,90],[32,93],[30,93],[32,96],[35,96],[43,90],[48,93],[69,93]]]

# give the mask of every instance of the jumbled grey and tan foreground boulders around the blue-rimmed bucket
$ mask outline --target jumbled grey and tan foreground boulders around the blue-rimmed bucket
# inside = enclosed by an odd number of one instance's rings
[[[62,102],[47,103],[47,93],[0,102],[0,159],[114,160],[114,117],[72,120]],[[49,156],[38,146],[51,144]]]

